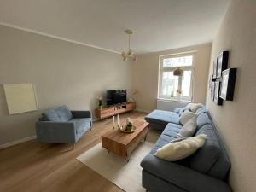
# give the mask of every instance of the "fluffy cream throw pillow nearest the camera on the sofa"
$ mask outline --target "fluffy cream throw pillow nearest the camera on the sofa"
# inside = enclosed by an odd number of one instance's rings
[[[168,143],[159,148],[154,155],[164,160],[182,160],[201,148],[206,143],[206,139],[205,134],[200,134],[196,137],[183,139],[180,142]]]

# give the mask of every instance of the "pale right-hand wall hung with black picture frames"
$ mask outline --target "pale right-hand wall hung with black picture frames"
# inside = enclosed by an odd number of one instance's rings
[[[237,68],[233,102],[217,106],[207,93],[207,108],[218,126],[231,160],[234,192],[256,191],[256,1],[233,0],[212,44],[212,62],[230,50],[229,67]]]

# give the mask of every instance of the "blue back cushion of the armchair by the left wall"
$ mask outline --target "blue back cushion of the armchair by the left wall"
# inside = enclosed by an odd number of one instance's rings
[[[72,119],[72,113],[67,106],[49,109],[42,113],[44,120],[67,122]]]

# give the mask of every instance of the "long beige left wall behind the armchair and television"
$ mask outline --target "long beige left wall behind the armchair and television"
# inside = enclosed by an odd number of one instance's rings
[[[34,83],[39,110],[9,115],[7,83]],[[33,136],[46,108],[94,111],[96,96],[130,87],[131,63],[118,54],[0,26],[0,145]]]

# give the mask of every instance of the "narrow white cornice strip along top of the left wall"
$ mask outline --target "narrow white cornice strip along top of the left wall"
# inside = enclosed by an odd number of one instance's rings
[[[28,29],[28,28],[21,27],[21,26],[15,26],[15,25],[11,25],[11,24],[8,24],[8,23],[3,23],[3,22],[0,22],[0,26],[9,26],[9,27],[12,27],[12,28],[15,28],[15,29],[18,29],[18,30],[21,30],[21,31],[25,31],[25,32],[32,32],[32,33],[35,33],[35,34],[38,34],[38,35],[43,35],[45,37],[55,38],[55,39],[59,39],[59,40],[62,40],[62,41],[67,41],[67,42],[70,42],[70,43],[73,43],[73,44],[84,45],[86,47],[90,47],[90,48],[94,48],[94,49],[101,49],[101,50],[105,50],[105,51],[108,51],[108,52],[111,52],[111,53],[114,53],[114,54],[121,54],[119,51],[116,51],[116,50],[113,50],[113,49],[106,49],[106,48],[102,48],[102,47],[99,47],[99,46],[96,46],[96,45],[93,45],[93,44],[85,44],[85,43],[82,43],[82,42],[79,42],[79,41],[76,41],[76,40],[73,40],[73,39],[61,38],[59,36],[51,35],[51,34],[46,33],[46,32],[38,32],[36,30]]]

